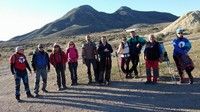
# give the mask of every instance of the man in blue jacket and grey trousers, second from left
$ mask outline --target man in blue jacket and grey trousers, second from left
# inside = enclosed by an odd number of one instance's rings
[[[47,93],[47,72],[50,71],[50,60],[47,52],[44,51],[44,45],[39,44],[32,57],[32,67],[36,73],[34,93],[36,97],[39,96],[40,77],[42,77],[43,85],[42,91]]]

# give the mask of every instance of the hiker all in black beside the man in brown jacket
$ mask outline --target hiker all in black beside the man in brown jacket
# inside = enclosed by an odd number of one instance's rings
[[[99,83],[104,82],[105,74],[105,84],[110,84],[110,74],[112,68],[111,53],[113,52],[112,46],[107,42],[106,36],[102,36],[98,47],[98,54],[100,58],[99,65]]]

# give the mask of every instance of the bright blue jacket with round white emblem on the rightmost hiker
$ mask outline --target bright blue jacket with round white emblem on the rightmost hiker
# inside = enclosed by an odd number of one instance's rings
[[[174,51],[173,51],[174,56],[185,55],[190,51],[192,47],[190,41],[185,37],[182,38],[177,37],[176,39],[174,39],[173,46],[174,46]]]

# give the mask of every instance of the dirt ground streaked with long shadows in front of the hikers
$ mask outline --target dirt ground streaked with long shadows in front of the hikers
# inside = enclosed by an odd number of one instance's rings
[[[133,79],[114,81],[109,87],[79,85],[64,91],[56,91],[54,85],[49,93],[34,99],[27,99],[21,86],[22,103],[14,99],[13,77],[0,76],[0,84],[1,112],[200,111],[199,82],[145,85]]]

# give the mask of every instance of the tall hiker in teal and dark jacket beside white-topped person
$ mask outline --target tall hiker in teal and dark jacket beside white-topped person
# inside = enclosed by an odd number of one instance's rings
[[[128,44],[130,50],[130,59],[132,62],[132,67],[130,68],[130,76],[132,77],[132,72],[134,71],[135,77],[138,77],[137,66],[139,63],[139,56],[141,53],[142,47],[145,45],[146,40],[143,37],[136,35],[135,30],[130,31],[130,36],[128,37]]]

